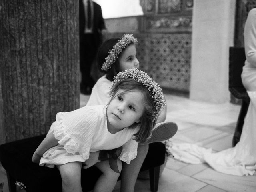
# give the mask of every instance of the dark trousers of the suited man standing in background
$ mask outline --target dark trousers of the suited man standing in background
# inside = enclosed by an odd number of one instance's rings
[[[83,34],[80,37],[80,71],[82,80],[80,84],[81,90],[90,90],[94,86],[94,80],[90,76],[91,66],[96,58],[98,44],[94,42],[93,34]],[[82,92],[82,91],[81,91]]]

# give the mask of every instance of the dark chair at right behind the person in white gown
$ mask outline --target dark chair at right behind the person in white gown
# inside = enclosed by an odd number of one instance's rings
[[[244,118],[246,116],[250,98],[242,84],[241,74],[244,62],[246,60],[245,51],[243,47],[230,47],[229,48],[229,91],[231,94],[242,100],[242,105],[238,120],[236,122],[236,129],[233,136],[232,145],[235,146],[242,133],[244,125]]]

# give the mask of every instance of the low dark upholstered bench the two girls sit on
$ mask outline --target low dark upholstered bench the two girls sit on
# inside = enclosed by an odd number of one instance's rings
[[[45,135],[26,138],[0,145],[0,160],[7,172],[10,192],[16,192],[16,181],[26,185],[27,192],[61,192],[62,181],[57,168],[40,167],[32,162],[32,155]],[[158,190],[160,165],[165,160],[165,145],[149,144],[148,154],[140,171],[150,171],[150,190]],[[93,189],[101,172],[95,166],[82,169],[82,189]],[[83,182],[85,181],[85,182]]]

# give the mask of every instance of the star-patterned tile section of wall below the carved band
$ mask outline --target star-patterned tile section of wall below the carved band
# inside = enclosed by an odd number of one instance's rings
[[[121,37],[112,33],[109,37]],[[162,88],[188,92],[190,83],[190,34],[134,34],[138,39],[140,69]]]

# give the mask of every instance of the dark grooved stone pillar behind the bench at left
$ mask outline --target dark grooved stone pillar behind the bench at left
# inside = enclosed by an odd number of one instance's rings
[[[79,108],[78,0],[2,0],[0,26],[3,143]]]

